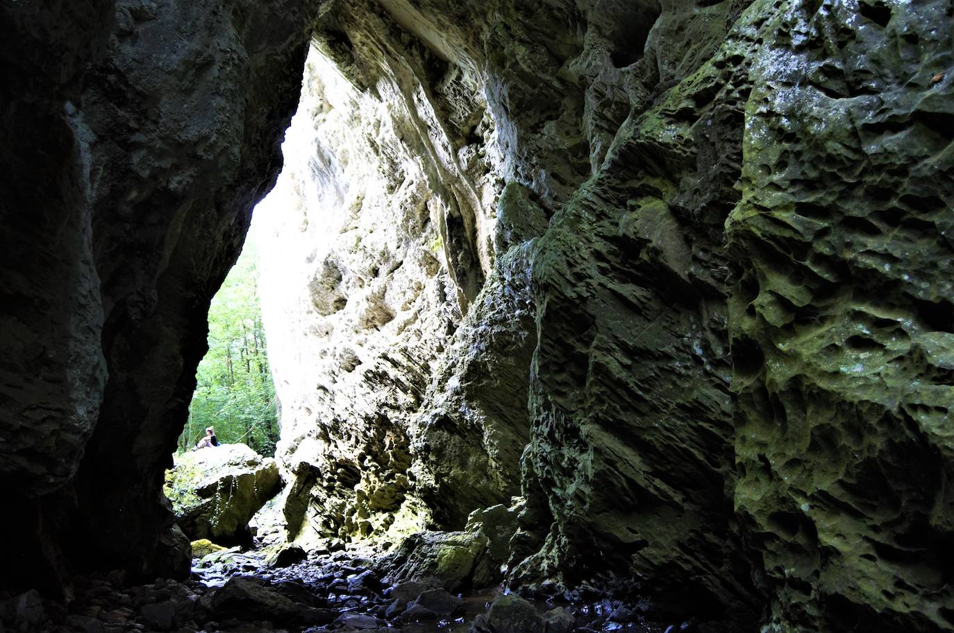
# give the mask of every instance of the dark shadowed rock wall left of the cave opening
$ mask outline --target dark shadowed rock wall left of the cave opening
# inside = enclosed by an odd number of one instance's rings
[[[314,5],[4,4],[4,584],[188,571],[163,471]]]

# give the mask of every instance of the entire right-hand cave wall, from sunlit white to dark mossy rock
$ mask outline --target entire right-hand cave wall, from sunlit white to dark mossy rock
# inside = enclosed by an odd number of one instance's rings
[[[272,209],[293,533],[519,491],[524,590],[951,628],[950,36],[944,2],[326,4]]]

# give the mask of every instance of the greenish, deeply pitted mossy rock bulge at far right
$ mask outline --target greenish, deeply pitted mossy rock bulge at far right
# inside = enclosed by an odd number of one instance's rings
[[[793,5],[766,33],[727,229],[772,630],[949,629],[951,5]]]

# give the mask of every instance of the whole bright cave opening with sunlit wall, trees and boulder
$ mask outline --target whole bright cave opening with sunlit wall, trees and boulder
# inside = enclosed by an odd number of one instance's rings
[[[198,553],[386,550],[434,525],[410,427],[462,316],[440,174],[404,138],[410,112],[363,91],[336,43],[309,49],[283,168],[211,303],[164,486]],[[219,445],[197,448],[209,428]]]

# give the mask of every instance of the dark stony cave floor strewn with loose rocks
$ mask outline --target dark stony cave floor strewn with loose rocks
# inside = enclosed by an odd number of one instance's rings
[[[394,554],[352,548],[306,557],[291,547],[221,550],[194,560],[184,582],[130,586],[114,571],[73,579],[70,602],[35,590],[0,594],[0,632],[391,631],[427,633],[674,633],[707,631],[688,622],[652,622],[639,605],[609,600],[529,602],[498,586],[450,593],[432,579],[393,582]],[[454,589],[453,582],[446,582]]]

